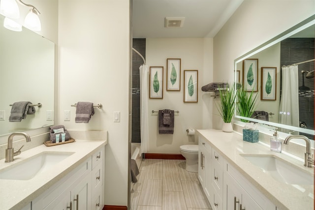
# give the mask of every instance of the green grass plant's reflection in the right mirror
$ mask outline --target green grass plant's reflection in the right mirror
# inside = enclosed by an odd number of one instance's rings
[[[237,91],[237,114],[242,117],[252,118],[252,114],[256,108],[257,93],[247,91],[246,89],[239,88]],[[250,120],[241,119],[243,122],[249,122]]]

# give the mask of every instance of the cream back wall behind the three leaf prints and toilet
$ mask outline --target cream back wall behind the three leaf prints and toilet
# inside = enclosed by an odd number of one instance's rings
[[[212,82],[212,38],[147,38],[146,63],[163,66],[163,99],[149,99],[149,153],[180,153],[184,144],[198,144],[194,136],[188,136],[186,129],[211,128],[209,122],[212,108],[209,93],[201,87]],[[166,91],[166,60],[181,59],[181,90]],[[198,102],[184,103],[184,70],[198,70]],[[149,91],[149,90],[148,90]],[[151,111],[171,109],[175,113],[174,134],[158,134],[158,113]],[[204,123],[205,122],[205,123]]]

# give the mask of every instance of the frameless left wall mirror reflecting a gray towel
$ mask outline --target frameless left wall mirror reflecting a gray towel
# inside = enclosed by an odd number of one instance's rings
[[[54,124],[55,44],[24,27],[8,30],[3,21],[0,15],[0,136]],[[42,106],[21,122],[9,122],[10,104],[17,101]]]

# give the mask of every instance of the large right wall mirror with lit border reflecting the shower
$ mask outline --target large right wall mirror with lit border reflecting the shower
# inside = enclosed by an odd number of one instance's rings
[[[257,60],[258,64],[252,68],[256,75],[255,78],[257,78],[256,82],[258,83],[258,99],[255,110],[268,113],[267,121],[266,119],[257,120],[255,118],[244,118],[238,116],[237,113],[235,119],[251,120],[280,127],[280,130],[283,132],[293,134],[299,132],[301,135],[307,135],[310,139],[314,139],[314,74],[312,76],[312,71],[314,73],[315,58],[314,38],[315,15],[234,60],[235,82],[241,84],[243,84],[244,80],[245,83],[247,82],[246,75],[244,77],[243,64],[251,62],[252,60]],[[298,78],[296,79],[298,79],[298,84],[293,89],[293,83],[291,81],[287,81],[287,79],[283,80],[283,78],[286,77],[283,75],[285,69],[282,70],[282,67],[283,65],[288,66],[300,62],[303,63],[297,65]],[[246,69],[245,72],[247,72]],[[261,85],[261,83],[266,83],[266,76],[264,76],[265,72],[277,73],[270,73],[270,78],[274,80],[274,83],[272,84],[275,89],[271,92],[272,97],[269,98],[261,97],[261,90],[265,91],[265,86]],[[263,78],[263,80],[261,78]],[[292,110],[288,109],[284,111],[284,108],[280,108],[281,98],[286,94],[292,95],[292,93],[288,91],[289,88],[281,90],[284,81],[288,82],[292,91],[294,90],[298,94],[295,100],[298,102],[295,107],[292,106]],[[285,98],[285,96],[283,98]],[[291,102],[286,103],[288,104]],[[284,120],[282,119],[284,117],[281,115],[284,114],[297,114],[297,122],[283,122]]]

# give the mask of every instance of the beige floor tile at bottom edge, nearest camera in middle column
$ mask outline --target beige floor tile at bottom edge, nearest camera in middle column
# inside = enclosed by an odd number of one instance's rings
[[[163,210],[187,210],[183,192],[163,191]]]

